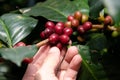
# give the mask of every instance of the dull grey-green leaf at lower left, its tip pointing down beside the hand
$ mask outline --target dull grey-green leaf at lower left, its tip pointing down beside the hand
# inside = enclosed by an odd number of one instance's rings
[[[10,60],[20,66],[21,61],[25,57],[32,57],[37,52],[37,50],[38,48],[36,45],[22,46],[17,48],[2,48],[0,49],[0,54],[4,59]]]

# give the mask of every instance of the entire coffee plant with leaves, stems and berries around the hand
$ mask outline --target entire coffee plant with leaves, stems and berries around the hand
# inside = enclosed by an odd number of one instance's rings
[[[119,2],[46,0],[2,14],[0,80],[21,80],[41,42],[78,47],[77,80],[120,80]]]

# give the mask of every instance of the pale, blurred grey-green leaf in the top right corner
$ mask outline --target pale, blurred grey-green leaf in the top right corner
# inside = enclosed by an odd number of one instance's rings
[[[116,26],[120,26],[120,0],[103,0],[108,13],[113,17]]]

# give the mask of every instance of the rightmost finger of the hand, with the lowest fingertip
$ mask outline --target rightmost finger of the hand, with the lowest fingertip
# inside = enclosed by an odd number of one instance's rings
[[[78,70],[81,66],[82,58],[79,54],[75,55],[65,73],[64,80],[76,80]]]

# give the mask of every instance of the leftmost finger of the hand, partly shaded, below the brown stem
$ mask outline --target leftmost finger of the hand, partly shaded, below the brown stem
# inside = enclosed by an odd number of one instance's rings
[[[34,64],[39,68],[42,65],[44,59],[46,58],[49,49],[50,49],[50,46],[48,45],[42,46],[38,50],[36,55],[33,57],[33,62],[31,64]]]

